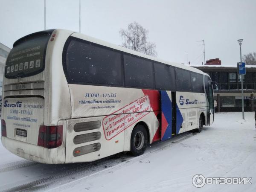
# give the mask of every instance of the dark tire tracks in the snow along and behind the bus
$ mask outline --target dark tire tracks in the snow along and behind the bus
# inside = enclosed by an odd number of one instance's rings
[[[86,177],[99,174],[100,172],[108,171],[109,169],[113,169],[116,167],[122,167],[125,166],[125,164],[127,163],[135,163],[138,160],[148,157],[152,153],[169,148],[170,146],[180,143],[182,140],[186,140],[192,136],[192,133],[184,133],[175,136],[173,140],[167,140],[163,143],[152,144],[151,147],[148,148],[148,150],[145,152],[145,154],[138,157],[131,157],[129,155],[123,154],[122,157],[119,159],[113,159],[113,156],[111,156],[96,160],[91,163],[73,164],[74,166],[71,166],[71,169],[62,169],[60,172],[55,173],[49,177],[40,178],[29,183],[14,186],[9,189],[3,190],[3,192],[54,190],[58,187],[66,186],[67,184],[76,182]],[[27,166],[30,165],[27,164]],[[12,167],[15,167],[15,165],[7,168],[11,169]],[[17,167],[21,168],[22,164],[20,166],[17,165]],[[49,189],[52,186],[55,188]]]

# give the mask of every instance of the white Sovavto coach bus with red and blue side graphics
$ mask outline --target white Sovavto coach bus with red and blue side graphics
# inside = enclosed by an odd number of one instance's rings
[[[64,29],[17,40],[3,79],[2,143],[41,163],[89,162],[211,125],[206,73]]]

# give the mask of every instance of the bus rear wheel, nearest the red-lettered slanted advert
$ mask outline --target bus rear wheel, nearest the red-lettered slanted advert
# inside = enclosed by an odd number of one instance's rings
[[[137,125],[131,133],[131,154],[139,156],[146,150],[148,134],[143,125]]]

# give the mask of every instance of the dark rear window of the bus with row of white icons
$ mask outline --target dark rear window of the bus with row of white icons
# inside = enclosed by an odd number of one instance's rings
[[[38,32],[16,41],[6,61],[5,77],[16,79],[41,73],[50,33]]]

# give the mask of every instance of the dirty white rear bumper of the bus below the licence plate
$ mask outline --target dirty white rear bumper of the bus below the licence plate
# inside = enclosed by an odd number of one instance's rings
[[[38,145],[32,145],[8,137],[2,137],[3,146],[13,154],[27,160],[47,164],[65,163],[65,153],[58,155],[59,148],[48,149]],[[61,147],[60,147],[61,148]]]

